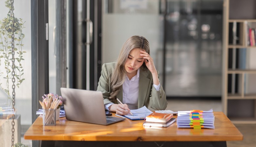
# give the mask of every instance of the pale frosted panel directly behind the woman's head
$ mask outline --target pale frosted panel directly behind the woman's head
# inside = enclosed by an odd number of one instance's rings
[[[153,59],[161,49],[160,17],[147,14],[104,14],[102,25],[102,62],[117,59],[124,42],[133,35],[147,38]]]

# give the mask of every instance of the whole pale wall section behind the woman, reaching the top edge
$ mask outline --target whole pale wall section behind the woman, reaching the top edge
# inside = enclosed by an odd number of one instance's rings
[[[150,54],[154,62],[161,62],[157,58],[157,50],[162,50],[163,18],[159,14],[159,1],[142,0],[138,3],[141,9],[124,7],[125,0],[114,1],[113,12],[106,13],[106,3],[103,1],[102,11],[102,64],[117,60],[124,42],[133,35],[144,36],[150,44]],[[156,64],[155,63],[155,64]]]

